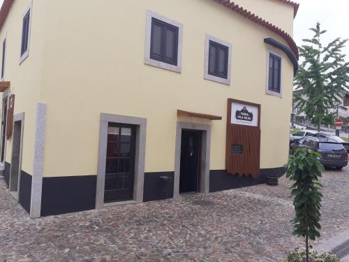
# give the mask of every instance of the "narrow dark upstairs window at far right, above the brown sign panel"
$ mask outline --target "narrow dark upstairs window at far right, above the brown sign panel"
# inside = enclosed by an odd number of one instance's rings
[[[269,54],[269,91],[281,93],[281,57]]]

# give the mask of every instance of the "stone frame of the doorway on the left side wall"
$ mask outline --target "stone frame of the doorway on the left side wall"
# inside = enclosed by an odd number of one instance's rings
[[[13,122],[13,142],[10,168],[10,193],[19,201],[20,173],[22,170],[22,145],[24,113],[15,115]]]

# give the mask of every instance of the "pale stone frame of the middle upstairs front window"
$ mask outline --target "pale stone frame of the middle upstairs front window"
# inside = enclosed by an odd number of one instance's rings
[[[219,78],[215,75],[209,74],[209,42],[213,41],[220,45],[224,45],[228,48],[228,78]],[[232,44],[228,43],[227,41],[223,41],[219,38],[216,38],[214,36],[211,36],[209,34],[206,34],[205,39],[205,73],[204,78],[207,80],[211,80],[214,82],[220,82],[221,84],[230,85],[231,84],[231,78],[232,78]]]

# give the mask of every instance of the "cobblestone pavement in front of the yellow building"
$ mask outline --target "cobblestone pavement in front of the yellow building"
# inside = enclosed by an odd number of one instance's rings
[[[349,168],[322,182],[318,242],[349,228]],[[1,181],[0,261],[283,261],[302,240],[280,183],[29,219]]]

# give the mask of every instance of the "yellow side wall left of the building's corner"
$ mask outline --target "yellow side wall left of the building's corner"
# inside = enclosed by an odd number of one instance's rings
[[[22,17],[32,4],[29,57],[20,64]],[[40,101],[42,86],[43,48],[45,29],[45,1],[20,0],[13,3],[0,31],[2,43],[6,37],[6,67],[4,80],[11,82],[10,92],[15,94],[15,114],[25,112],[22,151],[22,170],[32,174],[36,103]],[[2,99],[1,102],[2,103]],[[2,108],[2,107],[1,107]],[[10,163],[12,140],[6,140],[6,161]]]

